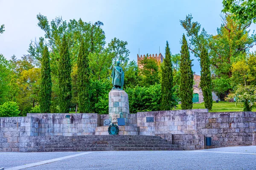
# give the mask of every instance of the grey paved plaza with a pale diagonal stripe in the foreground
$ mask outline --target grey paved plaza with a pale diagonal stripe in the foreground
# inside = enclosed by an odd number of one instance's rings
[[[253,170],[256,146],[193,151],[1,152],[5,170]]]

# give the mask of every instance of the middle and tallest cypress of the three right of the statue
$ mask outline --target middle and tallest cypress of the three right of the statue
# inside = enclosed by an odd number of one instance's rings
[[[180,51],[180,101],[181,109],[192,109],[193,107],[193,72],[192,60],[189,56],[188,43],[185,35],[182,37]]]

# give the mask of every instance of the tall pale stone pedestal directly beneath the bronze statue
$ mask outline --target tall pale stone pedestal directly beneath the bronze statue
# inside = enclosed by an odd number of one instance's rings
[[[108,113],[112,123],[117,125],[117,118],[124,118],[128,125],[129,102],[124,90],[111,90],[108,94]]]

